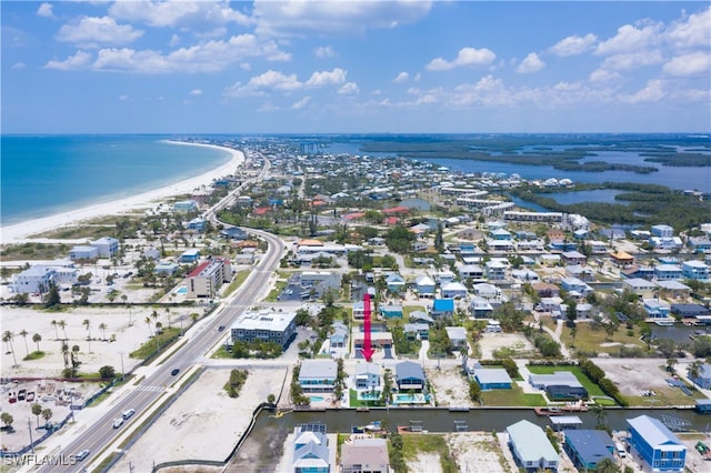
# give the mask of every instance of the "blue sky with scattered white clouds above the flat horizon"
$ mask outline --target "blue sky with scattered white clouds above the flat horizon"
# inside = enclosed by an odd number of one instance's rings
[[[709,132],[711,7],[0,2],[3,133]]]

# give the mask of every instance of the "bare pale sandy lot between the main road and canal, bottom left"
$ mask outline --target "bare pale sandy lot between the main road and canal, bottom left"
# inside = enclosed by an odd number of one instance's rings
[[[222,386],[229,369],[208,369],[143,434],[112,471],[150,471],[152,463],[177,460],[224,461],[247,431],[251,415],[269,394],[279,395],[286,369],[249,370],[239,397]]]

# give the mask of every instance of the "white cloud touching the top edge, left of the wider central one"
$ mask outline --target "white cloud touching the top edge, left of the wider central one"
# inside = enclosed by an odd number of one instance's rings
[[[219,1],[117,1],[109,9],[113,18],[141,21],[152,27],[249,26],[251,19]]]

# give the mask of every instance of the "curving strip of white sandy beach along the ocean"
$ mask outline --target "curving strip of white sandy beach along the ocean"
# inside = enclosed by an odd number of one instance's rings
[[[96,219],[103,215],[116,215],[131,210],[149,207],[151,203],[173,195],[190,192],[201,185],[209,185],[214,179],[233,174],[237,168],[244,163],[244,153],[232,148],[217,144],[193,143],[184,141],[166,140],[172,144],[213,148],[230,153],[231,158],[227,163],[219,165],[194,178],[183,179],[159,189],[143,192],[129,198],[112,200],[96,205],[83,207],[34,220],[0,228],[0,244],[21,243],[28,240],[29,235],[42,233],[49,230],[76,225],[84,220]]]

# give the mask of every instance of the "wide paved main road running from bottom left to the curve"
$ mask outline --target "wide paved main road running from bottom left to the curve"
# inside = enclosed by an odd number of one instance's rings
[[[180,349],[170,356],[169,361],[147,369],[146,378],[140,384],[134,389],[128,390],[124,394],[121,393],[119,399],[113,402],[112,406],[101,417],[83,426],[83,432],[74,441],[63,446],[60,452],[56,452],[59,455],[72,455],[81,450],[89,450],[89,456],[80,465],[48,466],[40,469],[40,472],[72,472],[78,471],[81,466],[91,464],[103,449],[117,440],[119,434],[130,429],[132,423],[139,424],[136,420],[141,416],[143,411],[157,401],[162,402],[163,399],[161,397],[168,399],[167,396],[172,394],[173,389],[180,384],[181,375],[201,363],[203,355],[224,336],[224,332],[218,331],[219,325],[229,326],[246,308],[264,295],[261,292],[268,288],[269,278],[273,269],[278,266],[284,252],[284,244],[282,240],[272,234],[256,230],[250,230],[250,232],[257,233],[267,240],[269,250],[237,291],[236,296],[217,314],[211,315],[196,330],[190,331],[186,335],[188,340],[182,342]],[[173,369],[180,370],[177,376],[171,375]],[[121,413],[128,409],[134,409],[136,415],[121,427],[113,429],[111,425],[113,419],[120,417]],[[82,425],[77,425],[77,427],[81,429]]]

